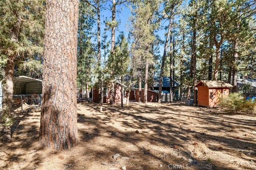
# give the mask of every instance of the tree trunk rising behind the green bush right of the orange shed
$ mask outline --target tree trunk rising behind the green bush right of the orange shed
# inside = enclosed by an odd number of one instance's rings
[[[234,57],[234,64],[233,64],[233,77],[232,77],[232,81],[233,81],[233,90],[232,92],[233,93],[236,93],[238,92],[237,90],[237,60],[238,60],[238,46],[237,46],[237,41],[238,39],[235,39],[234,40],[234,45],[233,45],[233,50],[234,50],[234,54],[233,54],[233,57]]]

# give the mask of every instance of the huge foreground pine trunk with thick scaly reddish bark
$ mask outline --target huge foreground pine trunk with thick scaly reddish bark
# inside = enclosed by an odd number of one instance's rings
[[[46,1],[39,143],[67,149],[78,142],[76,56],[78,0]]]

